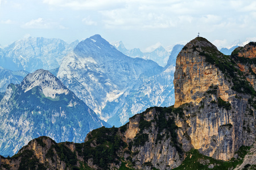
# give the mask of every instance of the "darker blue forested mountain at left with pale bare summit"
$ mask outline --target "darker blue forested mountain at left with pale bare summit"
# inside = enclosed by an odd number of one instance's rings
[[[89,131],[109,127],[46,70],[36,70],[20,84],[10,84],[1,98],[1,155],[13,155],[40,136],[82,142]]]

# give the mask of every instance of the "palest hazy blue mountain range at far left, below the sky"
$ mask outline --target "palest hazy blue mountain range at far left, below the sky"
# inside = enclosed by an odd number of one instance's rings
[[[0,49],[0,66],[13,71],[28,72],[55,69],[78,43],[78,40],[67,44],[60,39],[28,37]]]

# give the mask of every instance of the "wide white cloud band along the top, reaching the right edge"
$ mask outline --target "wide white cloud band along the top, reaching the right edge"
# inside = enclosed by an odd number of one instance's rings
[[[102,17],[98,20],[84,18],[86,25],[101,25],[109,29],[166,29],[183,30],[201,27],[207,32],[229,26],[247,27],[252,19],[246,11],[256,18],[256,2],[241,1],[181,1],[181,0],[43,0],[51,7],[70,10],[93,11]],[[217,12],[216,12],[217,11]],[[246,15],[246,16],[243,16]],[[243,20],[230,20],[230,18]],[[241,25],[240,23],[243,22]],[[207,25],[207,26],[206,26]],[[229,28],[226,27],[226,28]]]

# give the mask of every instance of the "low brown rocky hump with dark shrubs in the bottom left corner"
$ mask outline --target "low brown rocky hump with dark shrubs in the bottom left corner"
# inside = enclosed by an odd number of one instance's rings
[[[75,143],[56,143],[49,137],[39,137],[30,141],[18,154],[0,161],[0,169],[64,170],[79,165],[81,159],[75,154]]]

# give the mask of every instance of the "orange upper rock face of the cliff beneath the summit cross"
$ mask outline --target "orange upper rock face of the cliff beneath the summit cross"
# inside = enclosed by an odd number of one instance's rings
[[[210,86],[220,85],[220,96],[228,100],[229,90],[225,79],[220,76],[215,60],[223,58],[216,46],[203,37],[188,42],[178,54],[174,74],[175,107],[184,103],[199,104]]]

